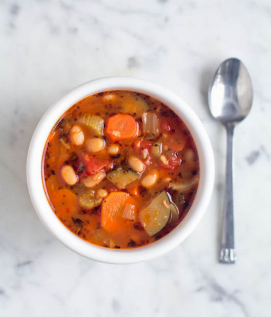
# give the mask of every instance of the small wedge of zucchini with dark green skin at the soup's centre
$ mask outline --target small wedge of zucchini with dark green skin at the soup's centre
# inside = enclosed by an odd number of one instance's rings
[[[108,181],[122,189],[139,178],[139,174],[130,169],[117,168],[106,175]]]

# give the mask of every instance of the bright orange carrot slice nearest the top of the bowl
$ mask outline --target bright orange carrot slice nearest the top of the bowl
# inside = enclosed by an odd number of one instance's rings
[[[128,140],[135,135],[137,124],[129,115],[115,115],[107,120],[105,133],[113,140]]]

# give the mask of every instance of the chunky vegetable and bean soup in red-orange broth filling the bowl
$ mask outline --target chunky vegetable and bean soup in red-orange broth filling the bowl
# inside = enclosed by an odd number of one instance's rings
[[[147,245],[172,231],[196,195],[199,161],[184,122],[141,93],[78,101],[50,132],[42,173],[59,220],[98,246]]]

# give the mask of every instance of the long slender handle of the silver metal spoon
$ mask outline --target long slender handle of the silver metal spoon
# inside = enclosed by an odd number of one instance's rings
[[[219,262],[227,264],[232,264],[236,261],[233,221],[233,130],[234,125],[226,125],[226,188],[222,216],[222,236]]]

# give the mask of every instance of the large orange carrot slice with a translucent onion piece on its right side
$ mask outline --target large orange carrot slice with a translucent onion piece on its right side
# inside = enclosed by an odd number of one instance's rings
[[[122,217],[126,204],[135,205],[135,200],[124,192],[111,192],[102,203],[102,227],[108,232],[123,232],[133,226],[133,221]],[[136,209],[136,208],[135,208]],[[136,211],[137,212],[137,211]]]

